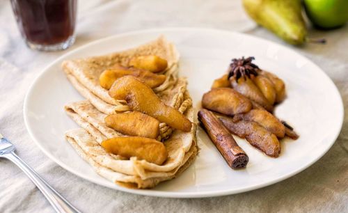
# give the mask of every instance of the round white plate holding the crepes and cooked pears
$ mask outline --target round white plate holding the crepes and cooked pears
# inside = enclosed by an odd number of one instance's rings
[[[200,153],[175,180],[155,189],[119,187],[101,178],[64,139],[64,132],[77,125],[65,115],[63,105],[83,100],[61,70],[65,59],[117,52],[164,34],[180,52],[180,74],[189,79],[189,91],[198,107],[213,79],[220,77],[231,58],[255,56],[261,68],[277,74],[287,86],[287,99],[276,109],[299,133],[297,141],[283,140],[282,154],[267,157],[237,139],[250,157],[246,169],[233,171],[219,155],[202,129],[198,129]],[[24,102],[24,120],[33,141],[66,170],[90,182],[148,196],[197,198],[250,191],[289,178],[324,155],[335,142],[343,121],[337,88],[326,74],[296,52],[267,40],[241,33],[212,29],[156,29],[125,33],[91,42],[51,63],[33,82]]]

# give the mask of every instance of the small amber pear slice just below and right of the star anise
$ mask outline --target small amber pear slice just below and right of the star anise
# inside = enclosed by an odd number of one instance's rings
[[[274,84],[267,77],[259,74],[253,78],[253,82],[260,89],[262,95],[266,97],[269,104],[273,105],[276,101],[276,88],[274,88]]]

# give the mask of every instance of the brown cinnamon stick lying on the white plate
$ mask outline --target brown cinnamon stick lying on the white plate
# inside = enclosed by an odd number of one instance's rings
[[[248,164],[248,155],[239,147],[228,129],[223,126],[219,118],[207,109],[198,112],[198,120],[202,123],[205,131],[219,150],[228,166],[231,168],[245,168]]]

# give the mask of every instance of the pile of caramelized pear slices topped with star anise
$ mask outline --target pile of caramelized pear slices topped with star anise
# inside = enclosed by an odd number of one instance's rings
[[[286,97],[284,81],[261,70],[252,63],[254,59],[232,59],[228,73],[216,79],[212,90],[203,95],[202,107],[214,111],[230,133],[246,139],[266,155],[278,157],[278,140],[285,136],[296,140],[299,135],[271,113]]]

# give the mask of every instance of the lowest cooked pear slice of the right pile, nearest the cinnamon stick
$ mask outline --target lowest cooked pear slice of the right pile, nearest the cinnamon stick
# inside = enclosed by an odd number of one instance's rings
[[[234,122],[232,118],[219,118],[223,125],[230,130],[232,134],[246,139],[251,145],[262,150],[270,157],[278,157],[280,154],[280,143],[275,134],[267,131],[258,123],[253,121],[239,120]]]

